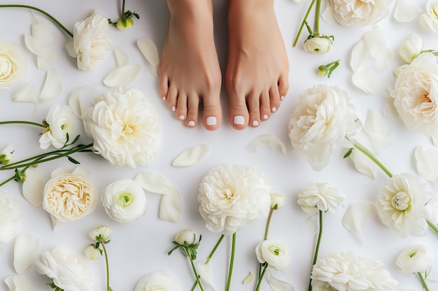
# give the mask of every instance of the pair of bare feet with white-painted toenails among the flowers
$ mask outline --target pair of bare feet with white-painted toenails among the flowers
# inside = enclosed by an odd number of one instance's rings
[[[168,0],[171,17],[160,58],[160,93],[189,128],[216,130],[222,121],[220,73],[212,0]],[[288,57],[274,0],[229,0],[226,86],[229,122],[257,127],[278,110],[288,91]]]

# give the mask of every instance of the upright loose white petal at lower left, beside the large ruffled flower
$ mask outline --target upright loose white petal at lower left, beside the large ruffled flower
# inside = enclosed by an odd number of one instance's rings
[[[34,234],[20,234],[15,240],[14,269],[23,274],[34,264],[34,256],[39,248],[39,239]]]

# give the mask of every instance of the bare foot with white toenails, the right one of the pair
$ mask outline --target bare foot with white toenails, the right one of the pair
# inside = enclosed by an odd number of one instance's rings
[[[229,121],[257,127],[276,112],[288,92],[288,56],[274,0],[229,0],[226,83]]]

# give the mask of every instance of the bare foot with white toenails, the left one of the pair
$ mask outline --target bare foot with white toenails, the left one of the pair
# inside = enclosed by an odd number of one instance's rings
[[[160,93],[186,126],[215,130],[222,121],[221,74],[213,37],[213,3],[168,0],[171,17],[160,58]]]

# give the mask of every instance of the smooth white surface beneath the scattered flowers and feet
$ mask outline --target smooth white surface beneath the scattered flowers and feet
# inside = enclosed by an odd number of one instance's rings
[[[57,17],[66,27],[72,28],[73,24],[92,13],[97,9],[99,13],[112,19],[117,19],[121,1],[109,0],[77,0],[77,1],[13,1],[37,6]],[[227,25],[226,6],[227,1],[215,0],[215,26],[216,45],[222,72],[225,71],[227,55]],[[387,91],[382,90],[380,94],[369,95],[353,87],[351,83],[351,70],[348,66],[349,56],[353,45],[362,38],[362,35],[370,27],[340,27],[338,24],[321,23],[321,31],[335,36],[334,45],[329,54],[313,55],[304,52],[302,41],[306,33],[302,34],[299,45],[292,48],[292,41],[302,21],[309,1],[302,4],[292,0],[277,0],[275,8],[278,22],[283,33],[286,49],[290,58],[290,90],[288,96],[281,103],[278,112],[272,114],[269,121],[262,122],[259,128],[247,128],[246,130],[234,130],[228,124],[227,115],[227,94],[225,87],[222,90],[222,107],[224,117],[222,126],[209,132],[202,128],[185,128],[183,123],[174,117],[165,103],[162,101],[158,91],[158,80],[150,73],[150,67],[143,58],[136,41],[140,38],[152,39],[161,52],[164,36],[167,31],[169,11],[164,0],[137,0],[127,1],[127,9],[139,13],[141,19],[135,20],[134,27],[125,32],[117,29],[109,29],[114,47],[118,47],[129,54],[129,63],[141,64],[140,75],[129,84],[128,88],[137,88],[145,92],[162,118],[162,148],[152,165],[138,167],[118,167],[110,165],[104,158],[92,154],[76,154],[74,158],[80,161],[81,165],[91,172],[91,179],[99,191],[115,179],[133,179],[138,172],[150,171],[161,174],[171,181],[183,196],[183,216],[178,223],[161,221],[158,218],[159,195],[148,193],[148,209],[146,215],[136,223],[122,225],[111,221],[106,215],[101,204],[96,211],[74,223],[68,223],[52,230],[50,216],[41,207],[32,207],[22,199],[21,185],[15,181],[3,186],[0,191],[5,191],[12,197],[23,200],[25,209],[24,225],[20,233],[32,233],[41,239],[39,251],[48,251],[55,246],[65,246],[71,251],[83,254],[85,247],[91,243],[88,232],[97,225],[111,225],[113,236],[108,244],[109,260],[111,267],[111,287],[114,291],[134,290],[134,285],[144,275],[153,272],[168,270],[174,272],[181,280],[183,290],[190,290],[193,276],[188,260],[179,252],[171,256],[167,252],[172,248],[171,241],[175,234],[181,230],[192,229],[202,234],[202,244],[199,247],[199,259],[205,258],[211,248],[216,244],[220,234],[213,234],[206,230],[204,222],[197,211],[197,193],[199,182],[208,170],[220,163],[236,163],[239,165],[253,165],[259,167],[267,174],[270,183],[279,192],[286,195],[288,202],[286,206],[275,211],[271,221],[269,237],[284,241],[292,253],[292,265],[283,273],[276,272],[274,276],[283,281],[292,283],[298,291],[306,290],[309,283],[311,260],[316,237],[307,221],[309,215],[304,213],[297,205],[297,192],[309,184],[318,181],[327,181],[332,186],[339,188],[346,194],[346,208],[339,209],[336,214],[324,216],[324,233],[320,247],[320,258],[332,252],[351,250],[358,255],[365,255],[385,264],[393,277],[399,281],[397,290],[421,290],[421,284],[414,276],[402,276],[400,270],[395,266],[395,258],[403,248],[414,243],[428,244],[431,248],[437,245],[438,237],[430,232],[421,238],[409,237],[400,239],[388,227],[385,227],[375,217],[362,233],[362,239],[346,230],[341,224],[341,219],[348,205],[354,202],[373,200],[381,186],[387,181],[383,172],[379,172],[375,180],[360,174],[355,170],[350,160],[344,160],[345,149],[337,149],[333,154],[330,164],[320,172],[314,172],[309,165],[299,156],[292,153],[292,147],[288,140],[286,128],[288,117],[295,107],[297,95],[313,84],[337,85],[348,91],[351,102],[355,105],[358,116],[365,120],[369,109],[376,110],[383,114],[383,107],[386,103]],[[8,3],[1,1],[1,3]],[[416,1],[421,7],[425,7],[425,1]],[[392,8],[388,17],[379,24],[386,29],[388,43],[395,52],[395,59],[383,72],[376,72],[379,82],[385,89],[393,85],[395,77],[392,70],[401,64],[397,50],[402,40],[410,33],[416,32],[425,40],[426,49],[438,49],[437,36],[423,31],[418,22],[399,23],[393,18]],[[45,80],[45,71],[36,68],[36,58],[24,46],[24,34],[30,32],[31,15],[26,9],[2,8],[0,10],[1,23],[0,40],[11,40],[22,46],[27,56],[29,72],[23,80],[0,91],[0,119],[1,120],[31,120],[41,121],[50,104],[41,105],[34,112],[34,105],[27,103],[13,103],[10,96],[13,91],[23,84],[34,82],[41,88]],[[73,89],[92,84],[97,90],[104,86],[102,80],[115,68],[115,59],[112,52],[108,52],[104,61],[101,61],[97,68],[89,72],[79,71],[76,68],[75,60],[69,57],[64,50],[65,43],[70,40],[69,36],[60,31],[55,24],[52,24],[43,15],[35,13],[39,20],[47,22],[55,33],[56,59],[52,63],[62,80],[62,94],[55,102],[66,104],[69,94]],[[311,18],[313,19],[313,17]],[[335,59],[341,59],[341,65],[334,71],[332,77],[321,77],[316,73],[320,64],[327,64]],[[378,158],[393,173],[413,172],[413,152],[417,145],[423,144],[425,148],[432,147],[430,140],[418,133],[411,133],[404,127],[401,121],[383,119],[382,126],[390,128],[390,146],[379,153]],[[13,142],[15,144],[15,156],[24,158],[38,154],[41,150],[38,146],[39,129],[30,126],[2,126],[0,128],[0,146]],[[266,149],[257,153],[250,152],[246,146],[256,137],[271,133],[282,140],[288,153],[282,154],[276,149]],[[173,167],[174,158],[188,147],[198,144],[209,144],[211,152],[202,163],[192,167]],[[38,167],[45,179],[50,177],[50,172],[59,166],[71,165],[68,161],[54,161]],[[0,173],[0,179],[10,177],[10,172]],[[436,193],[437,188],[431,185],[432,191]],[[249,285],[242,282],[249,272],[256,274],[257,259],[255,257],[255,246],[263,238],[266,221],[259,221],[248,225],[237,234],[236,258],[234,262],[234,274],[231,290],[253,290],[255,281]],[[14,241],[3,244],[0,251],[0,279],[14,274],[13,269],[13,245]],[[212,260],[214,279],[218,290],[225,289],[225,281],[228,271],[229,251],[231,249],[231,238],[228,237],[222,242],[216,255]],[[435,248],[436,250],[436,248]],[[438,254],[437,254],[438,255]],[[90,261],[94,276],[94,290],[105,289],[105,266],[104,258]],[[49,279],[41,276],[36,269],[31,268],[24,276],[29,280],[31,290],[50,290],[46,283]],[[438,264],[435,263],[430,274],[431,290],[437,290]],[[262,283],[262,290],[270,290],[266,279]],[[0,290],[7,290],[6,285],[0,283]]]

